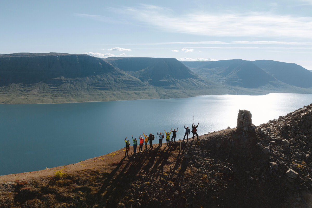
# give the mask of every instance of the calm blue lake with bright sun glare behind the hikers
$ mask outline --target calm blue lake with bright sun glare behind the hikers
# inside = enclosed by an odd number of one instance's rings
[[[312,103],[312,94],[0,105],[0,175],[79,162],[123,148],[124,138],[199,123],[199,135],[236,127],[239,109],[259,125]],[[192,134],[191,134],[192,135]],[[155,138],[154,143],[158,143]]]

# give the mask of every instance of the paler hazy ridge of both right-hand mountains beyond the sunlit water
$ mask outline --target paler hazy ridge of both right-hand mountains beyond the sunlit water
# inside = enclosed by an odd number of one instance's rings
[[[204,61],[203,63],[181,62],[198,75],[229,86],[244,88],[267,88],[269,86],[292,92],[309,92],[312,86],[312,74],[296,64],[272,60],[247,61],[241,59]],[[305,91],[306,89],[309,90]]]

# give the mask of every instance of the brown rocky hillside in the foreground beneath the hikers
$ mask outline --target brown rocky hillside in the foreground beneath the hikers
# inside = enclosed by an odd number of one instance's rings
[[[245,123],[121,151],[108,169],[7,181],[0,207],[312,207],[312,104],[259,127]]]

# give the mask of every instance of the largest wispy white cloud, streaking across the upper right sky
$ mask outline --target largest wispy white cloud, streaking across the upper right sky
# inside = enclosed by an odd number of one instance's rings
[[[311,2],[306,0],[305,2]],[[117,10],[115,10],[117,11]],[[166,31],[205,36],[231,37],[312,37],[312,17],[277,15],[268,12],[249,13],[200,13],[176,14],[164,7],[141,4],[124,7],[119,12],[150,27]]]

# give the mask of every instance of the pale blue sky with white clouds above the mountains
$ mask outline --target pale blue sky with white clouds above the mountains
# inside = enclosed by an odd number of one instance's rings
[[[276,60],[312,70],[312,0],[0,2],[0,53]]]

